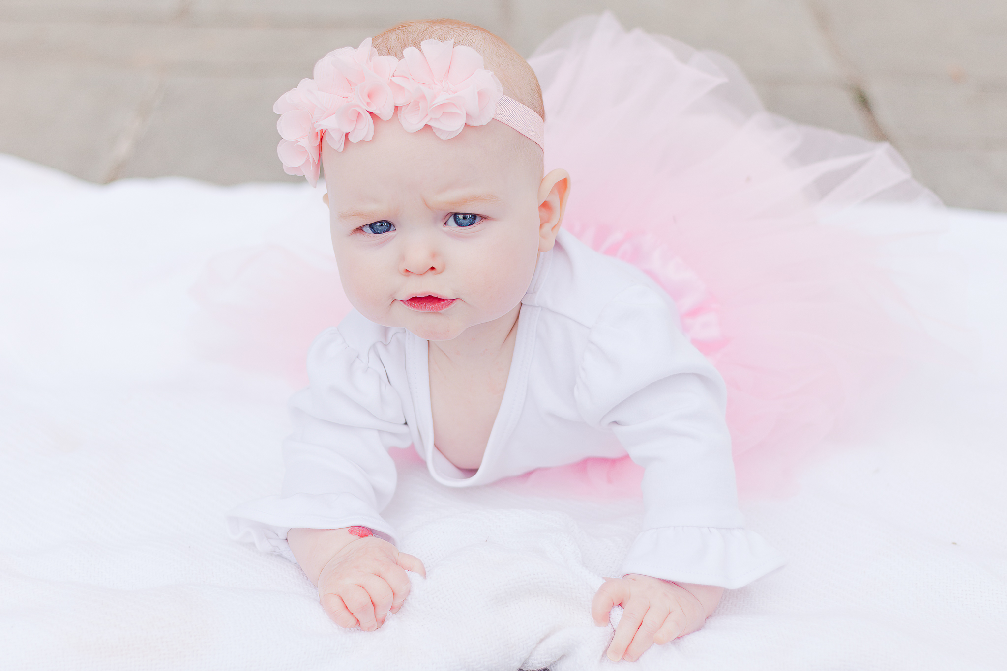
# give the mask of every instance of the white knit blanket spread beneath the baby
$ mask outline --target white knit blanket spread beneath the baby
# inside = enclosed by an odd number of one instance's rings
[[[188,291],[243,245],[320,258],[318,191],[98,187],[0,157],[0,666],[615,666],[612,629],[592,625],[589,604],[636,531],[635,500],[514,481],[447,489],[402,451],[387,515],[428,572],[373,633],[330,623],[295,564],[228,539],[226,511],[278,491],[292,387],[193,353]],[[619,665],[1004,668],[1007,215],[950,215],[934,245],[974,273],[954,297],[977,329],[960,347],[974,356],[916,371],[832,437],[844,449],[796,495],[745,502],[789,563],[727,593],[702,631]]]

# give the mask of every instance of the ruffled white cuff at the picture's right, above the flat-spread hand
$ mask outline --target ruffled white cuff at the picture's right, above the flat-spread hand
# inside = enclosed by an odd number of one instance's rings
[[[636,536],[619,573],[733,590],[785,562],[783,555],[754,531],[666,526],[646,529]]]

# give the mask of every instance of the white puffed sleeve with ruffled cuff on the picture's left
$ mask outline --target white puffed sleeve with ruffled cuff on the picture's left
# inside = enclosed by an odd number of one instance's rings
[[[351,326],[344,322],[340,329]],[[315,339],[308,352],[310,385],[290,399],[294,432],[283,444],[282,492],[232,510],[233,538],[291,560],[286,538],[292,528],[358,524],[395,542],[395,529],[380,514],[396,486],[388,450],[408,447],[412,439],[378,349],[351,347],[339,329]]]

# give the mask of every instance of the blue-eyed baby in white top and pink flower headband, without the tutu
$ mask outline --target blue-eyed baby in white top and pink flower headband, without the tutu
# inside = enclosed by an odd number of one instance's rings
[[[539,83],[506,42],[402,24],[330,53],[276,111],[287,171],[324,166],[355,311],[312,345],[282,496],[237,509],[236,537],[292,553],[337,625],[373,631],[424,573],[380,516],[389,448],[449,487],[628,454],[643,529],[591,604],[598,626],[624,608],[610,659],[700,629],[725,588],[780,565],[743,528],[724,385],[671,299],[561,229],[570,177],[543,174]]]

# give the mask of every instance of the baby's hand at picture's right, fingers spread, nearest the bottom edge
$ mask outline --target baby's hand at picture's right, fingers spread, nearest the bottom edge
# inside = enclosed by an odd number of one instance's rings
[[[622,605],[608,659],[634,662],[654,643],[662,645],[702,629],[723,593],[723,588],[628,573],[605,578],[591,602],[591,615],[594,624],[604,627],[612,607]]]

